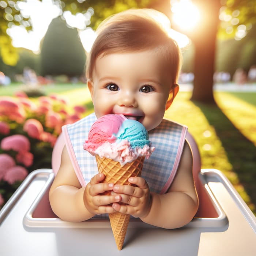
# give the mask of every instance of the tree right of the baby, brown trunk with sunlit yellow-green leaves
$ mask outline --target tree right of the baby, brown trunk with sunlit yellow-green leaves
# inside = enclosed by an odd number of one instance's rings
[[[215,49],[217,35],[230,38],[236,36],[240,25],[249,27],[250,23],[256,22],[255,0],[193,0],[203,15],[202,22],[190,33],[176,30],[187,34],[195,46],[194,57],[194,89],[192,100],[215,103],[213,97],[213,74],[215,71]],[[224,21],[220,23],[219,10],[222,7]],[[226,20],[226,22],[225,22]],[[219,26],[221,25],[221,26]]]

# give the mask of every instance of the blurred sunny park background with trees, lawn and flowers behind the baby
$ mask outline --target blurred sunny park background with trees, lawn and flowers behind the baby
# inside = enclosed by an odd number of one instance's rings
[[[61,126],[93,112],[84,65],[99,23],[128,8],[154,8],[170,19],[183,56],[181,90],[165,117],[188,125],[202,168],[221,170],[256,214],[255,6],[255,0],[0,1],[0,207],[28,173],[51,167]],[[45,31],[32,45],[38,10]]]

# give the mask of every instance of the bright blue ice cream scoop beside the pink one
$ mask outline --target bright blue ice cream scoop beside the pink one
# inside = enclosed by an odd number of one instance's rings
[[[148,132],[143,124],[136,120],[127,119],[123,121],[118,133],[116,134],[117,143],[120,140],[128,140],[132,148],[143,148],[151,144],[148,140]]]

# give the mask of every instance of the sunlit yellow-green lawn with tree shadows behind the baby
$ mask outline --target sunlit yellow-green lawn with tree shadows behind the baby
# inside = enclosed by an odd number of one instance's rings
[[[0,87],[0,95],[13,95],[20,85]],[[93,111],[84,84],[44,86],[46,94],[58,93],[69,105],[86,105]],[[180,92],[165,117],[189,127],[202,157],[202,168],[221,170],[256,214],[256,93],[215,92],[218,106],[190,101]]]

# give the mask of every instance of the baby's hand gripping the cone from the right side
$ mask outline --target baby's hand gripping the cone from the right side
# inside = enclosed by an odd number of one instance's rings
[[[112,207],[118,212],[130,214],[136,218],[146,217],[151,207],[148,184],[142,177],[132,177],[128,181],[136,186],[114,185],[113,191],[121,195],[121,202],[124,204],[113,203]]]

